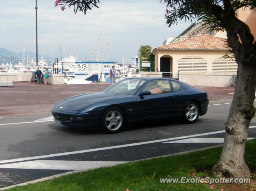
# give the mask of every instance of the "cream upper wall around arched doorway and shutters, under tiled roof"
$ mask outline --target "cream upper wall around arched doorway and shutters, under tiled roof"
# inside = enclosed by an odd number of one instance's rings
[[[169,55],[172,57],[172,72],[178,72],[178,61],[186,56],[199,56],[207,61],[207,72],[212,73],[212,62],[225,55],[222,50],[155,50],[155,71],[160,71],[160,58]]]

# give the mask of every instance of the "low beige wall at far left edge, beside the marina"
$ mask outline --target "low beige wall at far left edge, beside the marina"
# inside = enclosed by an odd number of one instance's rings
[[[32,73],[0,73],[0,81],[30,82]]]

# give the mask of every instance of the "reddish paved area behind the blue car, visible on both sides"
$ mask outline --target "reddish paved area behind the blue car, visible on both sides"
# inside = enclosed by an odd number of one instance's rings
[[[103,91],[108,84],[84,85],[38,85],[37,83],[14,83],[13,87],[0,87],[0,116],[42,114],[60,100],[83,93]],[[230,100],[232,87],[198,87],[208,93],[210,101]]]

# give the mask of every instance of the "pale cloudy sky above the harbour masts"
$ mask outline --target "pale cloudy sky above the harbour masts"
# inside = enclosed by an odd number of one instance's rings
[[[70,54],[78,60],[94,56],[95,43],[100,56],[108,61],[127,61],[138,55],[140,45],[161,46],[167,37],[174,37],[191,22],[181,21],[168,27],[164,14],[166,5],[160,0],[100,0],[98,8],[74,14],[73,8],[62,11],[55,0],[38,0],[38,53],[54,58]],[[35,0],[3,1],[0,6],[0,47],[22,52],[36,52]],[[108,43],[108,45],[107,45]],[[102,58],[100,58],[102,59]],[[101,61],[101,60],[100,60]]]

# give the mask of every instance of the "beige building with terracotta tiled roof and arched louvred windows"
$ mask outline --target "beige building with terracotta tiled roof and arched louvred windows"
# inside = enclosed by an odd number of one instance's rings
[[[230,85],[237,64],[224,57],[229,50],[225,38],[201,34],[154,48],[155,71],[191,85]]]

